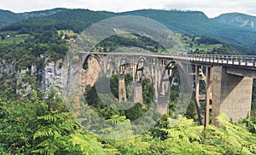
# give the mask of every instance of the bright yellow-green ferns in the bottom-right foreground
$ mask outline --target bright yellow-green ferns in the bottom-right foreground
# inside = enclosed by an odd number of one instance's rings
[[[192,120],[178,118],[169,120],[170,129],[160,129],[167,133],[161,142],[166,154],[254,154],[255,136],[240,125],[226,121],[224,115],[218,116],[223,123],[219,128],[209,125],[198,126]]]

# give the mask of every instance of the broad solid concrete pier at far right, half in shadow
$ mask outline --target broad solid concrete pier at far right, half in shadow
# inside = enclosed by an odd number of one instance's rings
[[[213,67],[212,124],[224,112],[233,122],[246,118],[251,111],[253,78],[226,73],[225,66]]]

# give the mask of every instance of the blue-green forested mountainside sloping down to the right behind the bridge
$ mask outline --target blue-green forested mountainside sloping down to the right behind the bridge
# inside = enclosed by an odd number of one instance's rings
[[[124,14],[142,15],[160,21],[171,30],[183,32],[192,36],[216,37],[230,43],[239,52],[255,55],[256,32],[240,26],[230,26],[215,20],[198,11],[154,10],[145,9],[131,11]]]

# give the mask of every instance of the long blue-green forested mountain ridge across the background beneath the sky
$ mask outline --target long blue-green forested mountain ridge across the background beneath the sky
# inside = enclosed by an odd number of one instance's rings
[[[39,30],[42,32],[55,28],[56,30],[70,29],[74,32],[82,32],[91,24],[110,17],[140,15],[157,20],[172,31],[191,36],[215,37],[221,41],[231,43],[237,50],[243,51],[242,53],[248,55],[256,54],[256,31],[246,26],[221,22],[218,20],[218,17],[208,18],[201,11],[140,9],[113,13],[108,11],[91,11],[89,9],[49,9],[26,14],[30,14],[32,17],[25,18],[23,16],[23,19],[15,23],[0,27],[0,31],[27,33]]]

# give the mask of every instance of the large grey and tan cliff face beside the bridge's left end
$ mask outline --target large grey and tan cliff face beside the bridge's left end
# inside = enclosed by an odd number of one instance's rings
[[[62,63],[62,60],[57,60],[56,62],[49,62],[44,66],[43,88],[45,94],[49,92],[50,87],[54,87],[60,93],[65,92],[66,87],[84,90],[87,85],[93,86],[96,83],[96,79],[101,72],[101,67],[94,58],[88,60],[88,69],[86,70],[82,68],[80,63],[73,64],[69,68],[61,67]],[[67,82],[70,74],[72,74],[72,79],[69,79]],[[69,86],[67,86],[67,83],[69,83]]]

